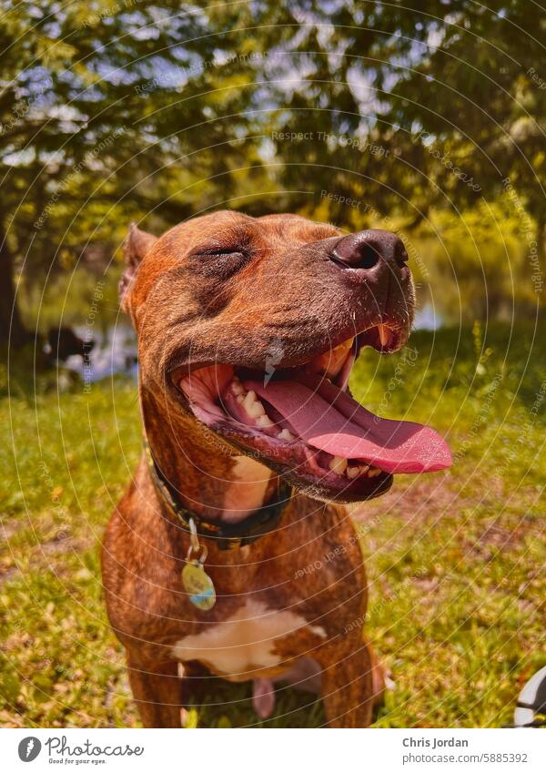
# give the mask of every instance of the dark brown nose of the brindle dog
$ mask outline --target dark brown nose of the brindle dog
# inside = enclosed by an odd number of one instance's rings
[[[332,259],[349,269],[373,269],[379,261],[402,268],[408,253],[401,239],[392,231],[369,229],[339,239]]]

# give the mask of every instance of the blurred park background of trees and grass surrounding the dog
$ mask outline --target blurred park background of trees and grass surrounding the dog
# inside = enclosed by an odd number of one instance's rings
[[[0,722],[137,721],[97,557],[140,446],[120,248],[131,221],[224,208],[405,241],[417,354],[370,352],[353,390],[433,423],[455,463],[355,515],[369,631],[402,677],[378,722],[510,721],[544,665],[540,5],[0,8]],[[195,723],[255,721],[229,696]],[[302,700],[274,722],[319,724]]]

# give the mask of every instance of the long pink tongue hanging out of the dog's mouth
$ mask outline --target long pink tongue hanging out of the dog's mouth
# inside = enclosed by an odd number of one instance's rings
[[[300,381],[269,381],[268,386],[261,381],[244,384],[281,412],[308,445],[333,456],[361,459],[385,473],[450,467],[450,449],[438,432],[414,422],[380,419],[329,381],[302,376]]]

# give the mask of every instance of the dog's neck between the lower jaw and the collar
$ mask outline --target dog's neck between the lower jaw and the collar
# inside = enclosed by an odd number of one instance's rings
[[[268,467],[247,456],[227,455],[189,417],[177,417],[175,431],[175,422],[158,419],[157,405],[150,402],[141,395],[147,442],[162,476],[188,510],[237,524],[274,496],[277,479]]]

